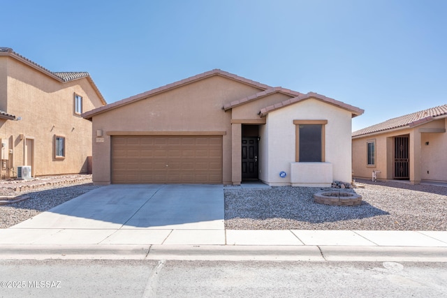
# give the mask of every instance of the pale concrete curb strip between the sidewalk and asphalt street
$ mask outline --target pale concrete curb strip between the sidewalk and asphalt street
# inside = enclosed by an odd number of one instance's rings
[[[447,262],[446,247],[2,244],[0,260]]]

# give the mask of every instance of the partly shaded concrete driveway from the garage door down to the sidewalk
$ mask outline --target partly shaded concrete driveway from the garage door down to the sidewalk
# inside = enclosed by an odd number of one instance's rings
[[[221,185],[110,185],[13,228],[223,229]]]

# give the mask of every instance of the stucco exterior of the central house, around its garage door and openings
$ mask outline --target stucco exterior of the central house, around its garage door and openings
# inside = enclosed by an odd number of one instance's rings
[[[261,114],[265,107],[269,109]],[[83,117],[93,121],[95,184],[112,183],[111,140],[115,135],[221,135],[223,184],[242,182],[242,137],[257,136],[258,179],[270,185],[328,186],[332,179],[351,181],[351,118],[361,113],[356,107],[322,96],[272,89],[212,70],[100,107]],[[309,173],[310,183],[309,177],[302,182],[298,175],[291,175],[296,119],[328,121],[325,165],[310,165],[316,168]],[[279,177],[281,170],[288,173],[286,179]],[[325,181],[318,178],[321,171]]]

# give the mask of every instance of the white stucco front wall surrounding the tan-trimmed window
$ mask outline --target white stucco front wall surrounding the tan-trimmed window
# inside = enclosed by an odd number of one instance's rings
[[[270,112],[267,117],[268,171],[261,179],[272,185],[297,186],[328,186],[332,181],[351,181],[351,112],[310,98]],[[325,124],[325,163],[331,165],[295,162],[293,120],[328,121]],[[281,178],[281,171],[291,174]]]

